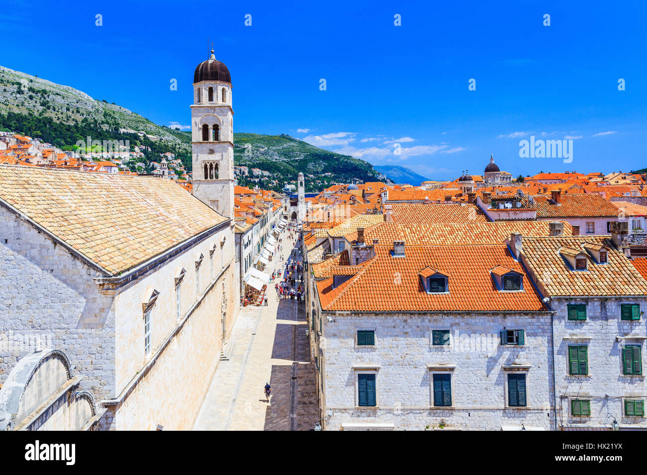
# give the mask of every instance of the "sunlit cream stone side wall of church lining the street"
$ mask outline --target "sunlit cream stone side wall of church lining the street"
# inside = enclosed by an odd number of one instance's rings
[[[221,255],[221,238],[225,248]],[[214,252],[214,270],[210,249]],[[196,293],[195,261],[200,254],[203,262],[199,295]],[[208,390],[223,343],[223,310],[226,313],[226,333],[231,332],[239,302],[239,284],[234,259],[234,236],[230,228],[212,235],[168,264],[160,267],[116,297],[116,380],[118,393],[128,383],[140,377],[144,366],[152,359],[153,366],[138,380],[114,414],[111,428],[118,430],[153,430],[160,424],[164,429],[186,430],[193,422]],[[225,257],[223,261],[222,256]],[[228,268],[218,277],[223,267]],[[186,269],[181,284],[181,313],[184,315],[199,302],[193,313],[182,322],[176,317],[175,280],[179,268]],[[153,313],[152,350],[144,352],[144,319],[142,299],[155,288],[159,296]],[[170,338],[170,341],[168,339]],[[159,350],[159,352],[158,352]]]

